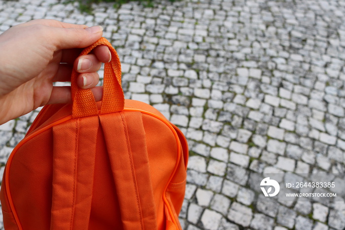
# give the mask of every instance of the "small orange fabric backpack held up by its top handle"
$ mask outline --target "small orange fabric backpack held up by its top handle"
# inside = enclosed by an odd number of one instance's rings
[[[13,150],[0,199],[6,230],[178,230],[188,146],[156,109],[125,100],[107,45],[102,102],[76,86],[73,104],[45,106]]]

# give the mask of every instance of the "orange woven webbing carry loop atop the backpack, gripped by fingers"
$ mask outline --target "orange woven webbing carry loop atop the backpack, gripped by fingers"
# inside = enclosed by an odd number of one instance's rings
[[[86,47],[79,56],[87,55],[95,47],[106,45],[111,53],[111,61],[104,64],[103,97],[101,114],[123,111],[125,96],[121,86],[121,63],[119,56],[106,38],[100,38],[94,44]],[[91,89],[81,89],[77,86],[78,73],[73,69],[71,76],[72,117],[98,115],[96,101]]]

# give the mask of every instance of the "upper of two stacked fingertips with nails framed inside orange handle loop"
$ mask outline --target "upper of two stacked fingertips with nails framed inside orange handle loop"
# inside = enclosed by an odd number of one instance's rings
[[[90,73],[96,72],[101,68],[102,62],[100,62],[96,55],[88,54],[79,56],[74,61],[74,70],[78,73]]]

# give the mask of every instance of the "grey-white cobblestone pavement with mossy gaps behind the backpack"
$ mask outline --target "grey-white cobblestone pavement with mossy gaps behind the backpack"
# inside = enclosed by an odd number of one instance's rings
[[[185,230],[345,229],[340,196],[268,202],[261,193],[252,202],[258,193],[248,186],[252,172],[344,173],[344,1],[95,8],[88,15],[76,3],[0,0],[0,32],[38,18],[104,26],[122,62],[126,98],[152,104],[188,139]],[[2,165],[37,111],[0,126]]]

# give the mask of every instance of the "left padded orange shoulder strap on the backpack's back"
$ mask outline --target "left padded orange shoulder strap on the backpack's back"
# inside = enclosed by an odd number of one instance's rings
[[[53,127],[51,230],[88,229],[98,116]]]

